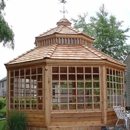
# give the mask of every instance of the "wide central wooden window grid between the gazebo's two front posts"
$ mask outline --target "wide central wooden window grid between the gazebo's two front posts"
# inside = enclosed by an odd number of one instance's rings
[[[64,68],[64,70],[61,70]],[[87,68],[91,69],[88,71]],[[98,72],[94,70],[94,68],[98,68]],[[101,81],[100,81],[100,66],[51,66],[51,75],[52,75],[52,86],[53,83],[57,84],[57,86],[61,86],[61,83],[66,83],[66,96],[60,93],[56,96],[57,102],[54,102],[55,96],[53,95],[54,87],[51,86],[51,110],[52,111],[70,111],[70,110],[100,110],[101,108]],[[61,75],[64,75],[62,78]],[[97,80],[94,79],[94,76],[97,76]],[[91,79],[89,80],[89,78]],[[88,80],[85,80],[88,78]],[[85,83],[97,83],[99,84],[98,88],[88,89],[85,88]],[[83,88],[78,88],[78,83],[83,84]],[[73,84],[70,87],[69,84]],[[73,88],[75,86],[75,88]],[[97,95],[94,94],[94,90],[99,90]],[[61,87],[58,87],[57,91],[61,91]],[[82,90],[82,94],[78,94],[77,92]],[[91,90],[91,95],[86,95],[85,90]],[[70,94],[72,91],[72,95]],[[62,103],[62,98],[66,98],[66,102]],[[94,101],[94,99],[98,99],[98,101]],[[72,100],[70,102],[70,100]],[[82,100],[82,101],[81,101]],[[85,101],[88,100],[88,103]],[[90,101],[90,102],[89,102]],[[64,106],[64,108],[62,108]],[[71,108],[72,106],[72,108]],[[86,107],[87,106],[87,107]],[[91,106],[91,107],[90,107]]]

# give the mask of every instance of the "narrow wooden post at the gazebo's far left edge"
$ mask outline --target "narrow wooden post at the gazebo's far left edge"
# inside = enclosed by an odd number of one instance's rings
[[[10,95],[10,71],[7,70],[7,86],[6,86],[6,118],[8,118],[9,116],[9,108],[10,108],[10,98],[9,98],[9,95]]]

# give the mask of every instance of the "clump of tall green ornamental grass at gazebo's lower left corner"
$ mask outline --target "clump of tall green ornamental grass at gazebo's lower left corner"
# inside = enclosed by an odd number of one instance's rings
[[[7,130],[27,130],[28,121],[24,112],[11,111],[7,118]]]

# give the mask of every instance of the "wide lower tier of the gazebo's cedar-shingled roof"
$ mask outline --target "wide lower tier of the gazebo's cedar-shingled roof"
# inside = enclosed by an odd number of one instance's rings
[[[125,66],[123,63],[111,58],[103,52],[100,52],[94,47],[89,48],[87,45],[68,45],[58,43],[51,44],[49,46],[35,47],[34,49],[8,62],[7,65],[46,58],[57,60],[107,60],[118,65]]]

